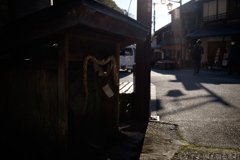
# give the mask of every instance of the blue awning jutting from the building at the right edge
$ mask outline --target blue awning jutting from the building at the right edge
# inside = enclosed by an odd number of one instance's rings
[[[208,37],[240,34],[240,25],[208,26],[188,34],[186,37]]]

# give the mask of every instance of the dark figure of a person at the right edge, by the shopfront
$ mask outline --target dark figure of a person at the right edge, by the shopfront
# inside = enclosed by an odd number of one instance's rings
[[[229,54],[229,68],[228,68],[228,75],[232,75],[232,66],[236,69],[238,75],[240,75],[239,72],[239,47],[238,44],[236,44],[236,41],[233,39],[231,42],[231,49]]]

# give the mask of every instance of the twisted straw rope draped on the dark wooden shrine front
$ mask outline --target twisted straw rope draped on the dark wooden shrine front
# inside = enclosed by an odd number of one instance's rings
[[[88,87],[87,87],[87,65],[89,60],[96,62],[98,65],[105,65],[107,63],[109,63],[111,61],[112,65],[113,65],[113,78],[114,78],[114,83],[115,85],[118,86],[118,72],[117,72],[117,63],[116,63],[116,59],[113,56],[108,57],[107,60],[97,60],[95,57],[93,56],[87,56],[84,60],[83,63],[83,85],[84,85],[84,90],[85,90],[85,102],[84,102],[84,112],[86,111],[86,107],[87,107],[87,100],[88,100]]]

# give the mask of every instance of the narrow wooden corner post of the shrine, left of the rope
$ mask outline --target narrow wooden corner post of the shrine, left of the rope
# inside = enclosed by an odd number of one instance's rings
[[[68,43],[67,36],[59,37],[58,48],[58,143],[59,151],[68,153]]]

